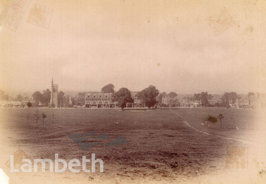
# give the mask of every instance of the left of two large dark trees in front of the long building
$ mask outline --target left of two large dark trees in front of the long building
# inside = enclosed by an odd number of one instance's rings
[[[116,101],[122,109],[127,106],[127,103],[133,103],[131,93],[127,88],[121,88],[118,92],[112,94],[112,101]]]

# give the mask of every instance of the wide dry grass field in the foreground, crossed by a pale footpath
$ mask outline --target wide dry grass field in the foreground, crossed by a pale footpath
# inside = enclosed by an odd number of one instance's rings
[[[1,108],[0,167],[10,183],[263,183],[265,162],[265,110],[226,108],[177,108],[148,111],[118,109],[48,109],[38,120],[37,109]],[[52,114],[54,125],[52,128]],[[208,115],[225,118],[208,121]],[[27,115],[30,115],[27,127]],[[237,127],[237,128],[236,128]],[[96,145],[84,151],[69,134],[94,131],[109,139],[128,141],[118,146]],[[104,172],[10,173],[9,159],[18,149],[33,159],[82,160],[95,153]],[[265,163],[264,163],[265,162]],[[89,163],[87,168],[91,169]],[[15,168],[15,169],[19,169]],[[76,167],[81,169],[81,167]]]

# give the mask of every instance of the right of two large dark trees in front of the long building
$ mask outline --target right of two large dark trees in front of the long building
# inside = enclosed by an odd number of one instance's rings
[[[158,94],[158,89],[156,89],[155,86],[150,85],[148,88],[145,88],[142,91],[138,92],[137,96],[150,109],[158,103],[158,101],[156,101],[156,96]]]

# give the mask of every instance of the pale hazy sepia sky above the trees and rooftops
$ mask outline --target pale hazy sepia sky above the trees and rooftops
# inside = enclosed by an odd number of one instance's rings
[[[264,1],[26,2],[0,30],[4,91],[266,93]]]

